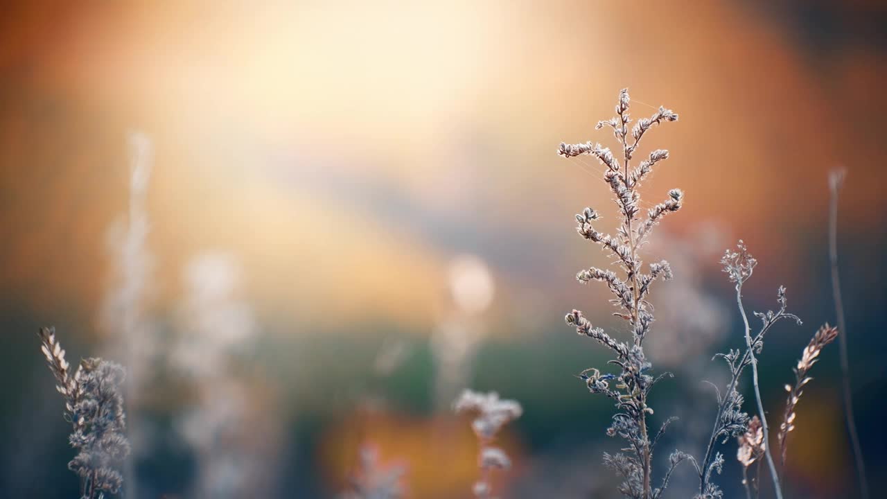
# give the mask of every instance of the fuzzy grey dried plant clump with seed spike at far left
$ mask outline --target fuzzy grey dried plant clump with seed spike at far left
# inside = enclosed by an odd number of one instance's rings
[[[115,468],[130,453],[124,435],[123,368],[102,359],[83,359],[75,373],[55,337],[55,329],[37,332],[41,350],[65,400],[65,419],[73,426],[68,441],[77,454],[68,469],[80,477],[81,499],[104,499],[120,492],[123,476]]]

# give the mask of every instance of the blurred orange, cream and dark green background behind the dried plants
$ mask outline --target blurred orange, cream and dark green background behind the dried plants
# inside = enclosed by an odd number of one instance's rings
[[[626,333],[575,279],[608,258],[573,215],[616,217],[600,165],[555,151],[611,145],[593,125],[626,86],[634,118],[680,115],[645,139],[671,151],[645,206],[687,193],[644,249],[675,272],[647,347],[675,374],[655,418],[681,418],[657,466],[702,454],[701,380],[723,383],[711,355],[743,344],[718,265],[740,238],[760,262],[748,308],[784,284],[805,321],[759,357],[778,426],[791,367],[836,321],[828,171],[844,166],[853,396],[887,487],[885,49],[887,8],[864,0],[4,3],[0,495],[77,493],[35,337],[54,325],[70,360],[130,370],[133,497],[334,497],[366,447],[404,466],[407,497],[468,497],[465,387],[523,405],[499,438],[504,497],[613,497],[611,404],[573,376],[606,352],[563,315]],[[789,496],[857,494],[837,352],[799,403]],[[692,475],[666,495],[692,495]]]

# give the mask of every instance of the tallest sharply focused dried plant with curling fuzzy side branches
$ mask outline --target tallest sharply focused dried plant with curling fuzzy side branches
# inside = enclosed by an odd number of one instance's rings
[[[567,314],[566,321],[576,328],[579,335],[591,337],[606,346],[616,357],[608,363],[621,369],[618,374],[603,374],[597,368],[588,368],[578,376],[590,392],[604,395],[616,405],[617,413],[613,416],[607,433],[610,436],[618,435],[627,441],[627,454],[605,453],[604,462],[624,479],[619,492],[633,499],[656,499],[668,486],[671,472],[678,464],[683,461],[695,464],[695,459],[691,455],[675,451],[669,458],[669,468],[663,476],[661,486],[651,486],[655,445],[673,418],[666,420],[655,436],[651,435],[648,416],[653,414],[653,409],[648,407],[648,395],[654,384],[666,375],[654,378],[649,374],[651,365],[644,354],[643,343],[653,322],[653,307],[648,302],[651,285],[656,279],[671,279],[671,266],[662,260],[648,264],[645,272],[639,249],[646,242],[650,231],[665,215],[681,208],[684,193],[680,189],[671,189],[664,202],[655,205],[647,213],[640,212],[640,184],[656,163],[669,157],[669,153],[664,149],[655,149],[647,159],[641,160],[633,168],[632,157],[640,140],[653,125],[676,122],[678,115],[671,109],[659,107],[649,118],[640,118],[630,134],[630,105],[628,90],[623,89],[619,92],[616,116],[608,121],[598,122],[595,127],[609,127],[613,130],[621,149],[621,161],[607,147],[590,141],[584,144],[561,143],[558,154],[567,158],[581,154],[593,155],[605,166],[603,179],[615,198],[619,218],[616,235],[600,233],[593,227],[593,223],[600,219],[600,213],[592,208],[585,208],[576,216],[577,232],[584,239],[599,244],[608,256],[614,257],[621,272],[592,267],[579,272],[577,280],[582,283],[601,281],[607,285],[615,297],[611,302],[619,309],[614,315],[628,323],[632,339],[624,343],[611,337],[603,329],[593,326],[578,310]]]

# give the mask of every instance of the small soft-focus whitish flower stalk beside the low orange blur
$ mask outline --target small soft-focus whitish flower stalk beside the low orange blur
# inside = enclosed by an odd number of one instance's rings
[[[523,412],[521,404],[514,400],[501,400],[496,392],[479,393],[466,390],[453,403],[453,409],[458,414],[468,412],[476,415],[471,428],[481,443],[478,456],[481,478],[475,482],[472,490],[478,499],[493,497],[491,473],[493,470],[510,468],[511,459],[504,450],[493,447],[492,442],[502,426],[521,416]]]

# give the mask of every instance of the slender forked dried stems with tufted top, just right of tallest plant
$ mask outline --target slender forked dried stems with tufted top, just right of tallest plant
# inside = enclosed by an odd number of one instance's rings
[[[745,333],[745,350],[744,352],[741,352],[739,350],[731,349],[727,353],[718,353],[716,355],[716,357],[724,359],[727,363],[727,367],[730,368],[730,381],[727,383],[726,390],[723,394],[717,387],[715,387],[718,396],[718,412],[715,417],[714,428],[711,431],[709,444],[705,450],[705,455],[703,456],[702,466],[698,470],[700,471],[699,494],[700,497],[706,499],[709,497],[721,497],[723,495],[723,492],[719,487],[711,482],[712,472],[717,471],[719,473],[724,465],[723,455],[716,452],[714,448],[718,445],[718,440],[721,440],[721,443],[723,444],[730,438],[748,431],[750,424],[749,415],[742,411],[743,398],[742,394],[737,391],[737,386],[742,377],[742,371],[751,366],[757,400],[757,416],[761,425],[762,434],[760,454],[762,454],[767,460],[770,475],[773,479],[773,489],[776,497],[781,499],[782,491],[779,477],[776,474],[773,456],[767,446],[769,429],[767,427],[764,408],[758,390],[756,354],[759,354],[764,349],[764,337],[767,331],[773,328],[774,324],[783,319],[790,319],[800,325],[801,320],[797,315],[787,312],[788,298],[786,297],[786,289],[785,287],[780,286],[776,292],[776,301],[780,305],[779,310],[776,312],[771,310],[766,313],[756,312],[755,315],[761,320],[761,328],[757,331],[757,334],[752,337],[749,319],[745,313],[745,307],[742,305],[742,285],[745,281],[748,281],[751,274],[754,273],[755,266],[757,266],[757,260],[751,256],[749,249],[741,240],[737,243],[735,250],[731,251],[730,249],[727,249],[724,252],[724,257],[721,258],[721,265],[724,265],[724,272],[727,274],[728,279],[735,284],[736,305],[739,307],[739,312],[742,315],[742,324]]]

